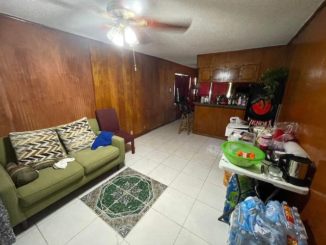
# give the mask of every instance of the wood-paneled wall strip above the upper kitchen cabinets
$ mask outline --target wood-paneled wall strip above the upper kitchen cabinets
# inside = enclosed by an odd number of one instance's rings
[[[252,48],[223,53],[197,56],[197,68],[224,65],[260,64],[258,80],[267,68],[274,69],[285,65],[287,46]]]

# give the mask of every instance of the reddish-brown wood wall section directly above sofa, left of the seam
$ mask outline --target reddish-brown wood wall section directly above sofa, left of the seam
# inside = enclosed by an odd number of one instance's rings
[[[0,136],[94,117],[86,38],[0,15]]]

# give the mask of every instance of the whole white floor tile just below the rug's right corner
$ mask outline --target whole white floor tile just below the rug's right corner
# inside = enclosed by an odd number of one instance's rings
[[[195,199],[168,187],[152,208],[182,226],[194,202]]]

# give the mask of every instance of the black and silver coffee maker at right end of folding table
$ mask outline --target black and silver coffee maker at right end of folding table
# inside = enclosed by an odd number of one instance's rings
[[[309,186],[313,178],[309,168],[312,161],[308,157],[283,154],[280,156],[277,166],[283,172],[283,179],[297,186]]]

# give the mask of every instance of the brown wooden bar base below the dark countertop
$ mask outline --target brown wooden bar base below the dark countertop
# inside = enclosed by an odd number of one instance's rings
[[[243,119],[245,112],[243,109],[195,105],[193,133],[226,139],[225,128],[230,117],[238,116]]]

